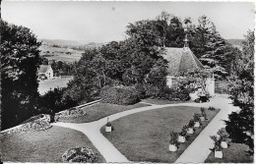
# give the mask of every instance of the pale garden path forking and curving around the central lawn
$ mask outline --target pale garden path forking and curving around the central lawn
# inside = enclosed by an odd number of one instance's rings
[[[206,129],[190,144],[190,146],[184,151],[183,154],[177,159],[176,162],[204,162],[207,156],[210,154],[210,149],[213,144],[211,141],[210,135],[215,135],[217,131],[224,126],[222,120],[227,118],[227,114],[230,113],[233,108],[231,108],[230,104],[228,104],[227,96],[216,96],[211,99],[208,103],[177,103],[177,104],[164,104],[164,105],[152,105],[146,107],[135,108],[127,111],[123,111],[120,113],[116,113],[105,118],[102,118],[98,121],[91,123],[82,123],[82,124],[74,124],[74,123],[53,123],[53,126],[59,126],[64,128],[70,128],[84,133],[96,146],[97,150],[101,153],[101,155],[105,158],[106,162],[129,162],[129,160],[119,152],[113,144],[102,136],[99,132],[100,128],[106,124],[107,118],[109,121],[114,121],[119,118],[153,109],[159,109],[170,106],[196,106],[196,107],[209,107],[214,106],[217,108],[221,108],[222,110],[219,114],[212,120],[209,124],[211,127],[206,127]],[[237,109],[236,109],[237,110]],[[209,138],[209,139],[208,139]],[[195,143],[194,143],[195,142]],[[204,144],[203,144],[204,143]],[[211,144],[212,143],[212,144]],[[202,147],[202,148],[199,148]],[[204,151],[203,151],[204,150]],[[200,153],[199,153],[200,151]],[[202,151],[202,152],[201,152]]]

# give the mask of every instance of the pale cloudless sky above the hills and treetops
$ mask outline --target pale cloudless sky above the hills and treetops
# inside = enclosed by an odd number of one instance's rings
[[[38,38],[108,42],[123,40],[129,23],[155,19],[166,11],[194,24],[206,15],[226,38],[244,38],[254,28],[251,2],[2,1],[8,23],[30,27]]]

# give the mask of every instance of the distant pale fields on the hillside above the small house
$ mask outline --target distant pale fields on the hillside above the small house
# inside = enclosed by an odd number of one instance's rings
[[[62,62],[75,62],[79,61],[84,51],[78,51],[71,48],[53,47],[50,45],[41,45],[40,56],[48,60],[56,60]]]

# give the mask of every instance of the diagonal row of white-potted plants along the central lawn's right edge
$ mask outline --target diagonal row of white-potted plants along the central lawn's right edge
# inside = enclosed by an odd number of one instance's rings
[[[199,128],[202,122],[207,120],[206,109],[201,108],[201,113],[195,113],[188,125],[185,125],[180,133],[170,133],[169,151],[176,151],[180,142],[185,142],[189,135],[194,134],[195,128]]]

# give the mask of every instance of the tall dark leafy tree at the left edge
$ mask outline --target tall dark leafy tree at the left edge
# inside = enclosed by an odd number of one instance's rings
[[[1,20],[2,130],[36,112],[40,42],[27,27]]]

